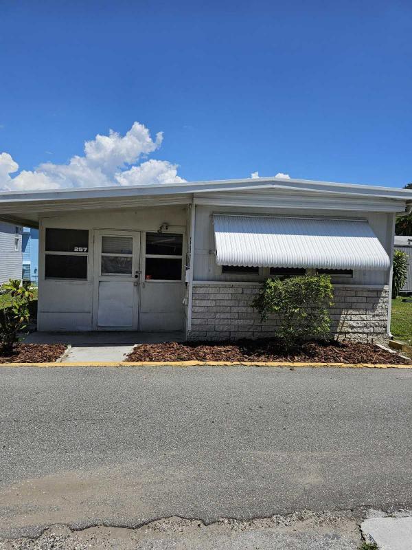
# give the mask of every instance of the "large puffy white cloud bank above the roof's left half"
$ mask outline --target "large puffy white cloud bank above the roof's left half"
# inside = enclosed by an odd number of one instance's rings
[[[71,157],[67,164],[45,162],[33,171],[22,170],[11,177],[19,165],[8,153],[0,155],[0,188],[5,190],[34,190],[109,185],[165,184],[185,181],[177,175],[176,164],[165,160],[148,160],[137,164],[163,141],[157,133],[155,140],[143,124],[134,122],[124,136],[109,131],[84,143],[84,155]]]

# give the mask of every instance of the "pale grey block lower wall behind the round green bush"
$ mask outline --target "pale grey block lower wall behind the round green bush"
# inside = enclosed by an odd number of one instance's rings
[[[194,283],[190,340],[238,340],[273,336],[278,317],[266,322],[251,307],[259,283]],[[388,287],[336,285],[330,309],[332,334],[339,340],[386,342]]]

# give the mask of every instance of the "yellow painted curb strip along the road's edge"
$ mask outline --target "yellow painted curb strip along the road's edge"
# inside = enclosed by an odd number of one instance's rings
[[[290,363],[290,362],[264,362],[264,361],[255,361],[255,362],[238,362],[238,361],[140,361],[140,362],[100,362],[100,361],[89,361],[89,362],[64,362],[64,363],[0,363],[1,367],[6,368],[16,368],[16,367],[36,367],[36,368],[52,368],[52,367],[61,367],[65,368],[66,366],[97,366],[97,367],[121,367],[121,366],[177,366],[177,367],[187,367],[187,366],[277,366],[277,367],[288,367],[289,369],[296,369],[300,367],[312,367],[312,368],[321,368],[321,367],[336,367],[338,369],[412,369],[412,364],[409,365],[393,365],[393,364],[371,364],[371,363]]]

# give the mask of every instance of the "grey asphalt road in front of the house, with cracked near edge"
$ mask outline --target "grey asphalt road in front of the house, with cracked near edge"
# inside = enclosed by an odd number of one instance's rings
[[[0,369],[0,536],[412,505],[412,371]]]

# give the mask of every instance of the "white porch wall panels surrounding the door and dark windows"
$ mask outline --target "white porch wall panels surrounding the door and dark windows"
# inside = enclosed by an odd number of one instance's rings
[[[156,232],[161,223],[170,224],[170,232],[182,232],[185,239],[187,208],[185,206],[145,207],[125,210],[67,212],[60,216],[43,217],[39,233],[38,265],[38,330],[92,331],[96,323],[96,303],[93,301],[95,230],[126,230]],[[45,230],[67,228],[89,230],[87,280],[45,278]],[[143,234],[142,234],[143,239]],[[144,242],[141,245],[141,266]],[[183,256],[185,264],[185,256]],[[21,270],[21,265],[20,265]],[[173,289],[171,287],[174,287]],[[161,289],[166,294],[161,300]],[[168,292],[166,292],[168,291]],[[183,281],[144,281],[139,287],[139,330],[181,330],[185,326],[186,289]]]

